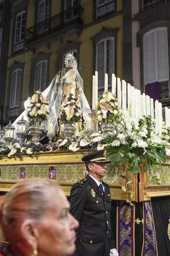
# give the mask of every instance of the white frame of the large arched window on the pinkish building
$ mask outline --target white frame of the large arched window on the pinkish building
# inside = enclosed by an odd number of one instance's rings
[[[157,37],[155,37],[158,30],[166,30],[166,56],[167,56],[167,78],[158,79],[158,56],[157,56]],[[155,52],[155,79],[149,82],[146,82],[146,37],[147,35],[154,32],[154,52]],[[151,29],[147,31],[145,34],[143,34],[143,81],[144,81],[144,91],[145,91],[145,85],[147,83],[154,83],[154,82],[164,82],[169,80],[169,52],[168,52],[168,33],[167,33],[167,27],[155,27],[154,29]],[[169,81],[170,82],[170,81]],[[170,93],[170,90],[169,90]]]

